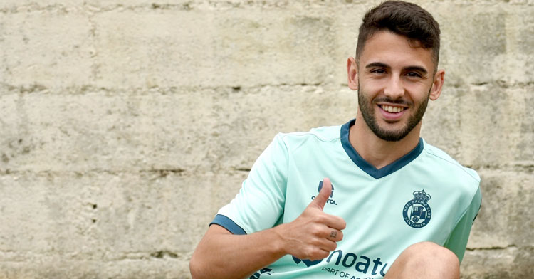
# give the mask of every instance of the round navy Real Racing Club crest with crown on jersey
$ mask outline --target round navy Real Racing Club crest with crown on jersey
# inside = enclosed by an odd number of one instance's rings
[[[412,228],[422,228],[429,223],[432,217],[432,210],[427,201],[430,195],[422,191],[414,191],[414,199],[408,201],[402,210],[404,221]]]

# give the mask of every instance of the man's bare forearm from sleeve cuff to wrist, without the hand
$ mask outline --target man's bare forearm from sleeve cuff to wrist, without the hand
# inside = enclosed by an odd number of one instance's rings
[[[212,225],[194,251],[189,268],[194,279],[246,278],[286,255],[278,228],[233,235]]]

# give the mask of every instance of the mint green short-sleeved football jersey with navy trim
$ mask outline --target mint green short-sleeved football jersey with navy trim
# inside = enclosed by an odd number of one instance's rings
[[[421,241],[463,258],[481,206],[478,174],[423,139],[376,169],[349,142],[354,122],[276,135],[239,194],[219,210],[212,223],[254,233],[293,221],[315,199],[323,177],[332,181],[324,211],[347,223],[337,249],[313,262],[284,256],[251,278],[383,278],[405,248]]]

